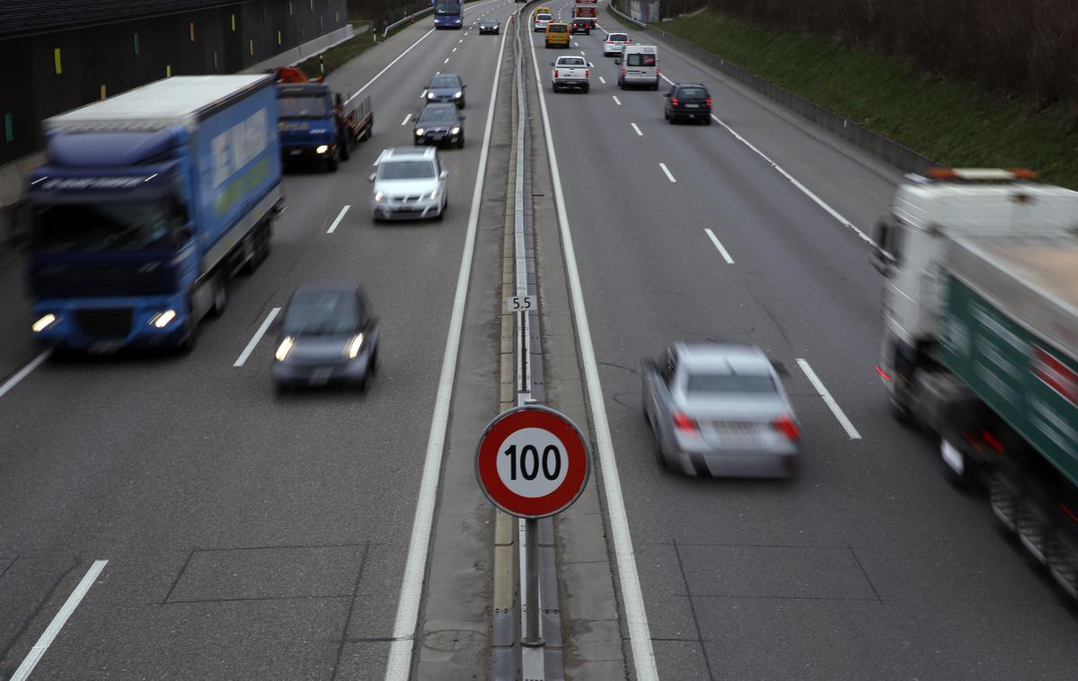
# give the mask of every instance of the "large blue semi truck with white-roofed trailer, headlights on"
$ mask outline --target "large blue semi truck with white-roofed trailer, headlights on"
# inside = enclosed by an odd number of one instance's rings
[[[58,350],[193,346],[282,209],[272,75],[156,81],[47,119],[29,178],[32,331]]]

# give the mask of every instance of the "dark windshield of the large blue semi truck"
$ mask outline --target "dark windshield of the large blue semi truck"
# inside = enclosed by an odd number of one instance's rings
[[[170,231],[183,223],[180,209],[169,206],[166,200],[50,206],[34,216],[33,247],[39,251],[168,248]]]

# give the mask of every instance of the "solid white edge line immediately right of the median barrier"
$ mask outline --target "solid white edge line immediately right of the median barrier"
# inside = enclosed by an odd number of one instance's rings
[[[531,46],[531,65],[535,68],[536,83],[542,83],[535,43],[529,40],[528,44]],[[584,309],[584,294],[580,286],[580,273],[577,269],[577,254],[572,247],[572,233],[569,230],[569,217],[565,209],[565,196],[562,194],[562,177],[557,169],[550,115],[547,113],[547,95],[542,87],[536,89],[539,91],[539,109],[542,112],[543,137],[547,140],[547,158],[550,163],[554,204],[557,207],[565,270],[572,297],[572,316],[580,339],[580,357],[584,365],[592,419],[595,422],[595,441],[599,453],[599,465],[603,468],[603,489],[606,492],[607,513],[610,517],[610,534],[618,564],[618,583],[621,585],[622,603],[625,608],[625,623],[628,627],[633,668],[636,670],[637,681],[658,681],[659,671],[655,668],[655,653],[651,647],[651,633],[648,627],[648,615],[644,608],[644,595],[640,593],[640,578],[636,572],[633,538],[630,533],[628,516],[621,494],[621,481],[618,478],[618,460],[613,454],[613,441],[610,436],[606,406],[603,404],[598,363],[595,360],[595,349],[592,347],[592,332],[588,325],[588,312]]]

